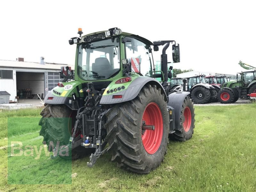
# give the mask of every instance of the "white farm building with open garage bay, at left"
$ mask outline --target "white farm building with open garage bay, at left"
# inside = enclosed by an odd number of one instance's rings
[[[24,59],[19,58],[19,60]],[[61,81],[60,67],[68,66],[46,63],[43,57],[40,63],[19,60],[0,60],[0,91],[8,92],[12,101],[16,96],[27,99],[36,94],[39,96],[43,94],[44,97]],[[71,68],[74,70],[74,66]]]

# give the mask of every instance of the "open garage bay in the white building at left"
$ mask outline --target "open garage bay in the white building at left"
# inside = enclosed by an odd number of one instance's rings
[[[32,94],[44,93],[44,73],[16,72],[17,90],[31,89]]]

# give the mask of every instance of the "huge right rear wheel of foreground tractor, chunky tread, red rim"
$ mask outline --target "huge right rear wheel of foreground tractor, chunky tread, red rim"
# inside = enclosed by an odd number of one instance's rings
[[[106,115],[108,152],[117,166],[136,173],[149,173],[164,159],[169,122],[164,93],[156,85],[145,85],[138,96],[114,106]],[[142,123],[155,130],[142,130]]]

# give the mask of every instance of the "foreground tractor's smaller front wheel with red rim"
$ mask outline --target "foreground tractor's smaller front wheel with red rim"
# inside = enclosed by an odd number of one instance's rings
[[[195,109],[192,99],[186,97],[183,101],[180,115],[180,129],[170,135],[172,140],[186,141],[192,137],[195,128]]]

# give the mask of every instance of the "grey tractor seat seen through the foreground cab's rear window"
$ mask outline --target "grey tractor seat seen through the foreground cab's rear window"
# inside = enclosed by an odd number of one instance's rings
[[[105,57],[95,59],[95,62],[92,63],[92,71],[96,72],[98,76],[105,76],[105,78],[113,74],[112,66]]]

